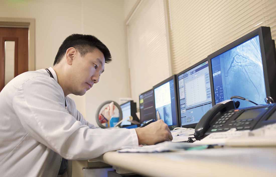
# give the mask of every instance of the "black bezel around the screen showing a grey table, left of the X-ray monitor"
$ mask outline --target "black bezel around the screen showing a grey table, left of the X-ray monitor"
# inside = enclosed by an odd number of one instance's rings
[[[200,64],[202,64],[202,63],[204,63],[204,62],[206,62],[206,61],[208,61],[208,58],[205,58],[205,59],[203,59],[203,60],[201,60],[201,61],[199,61],[199,62],[197,62],[196,64],[194,64],[194,65],[192,65],[192,66],[190,66],[190,67],[188,67],[187,69],[185,69],[185,70],[183,70],[183,71],[181,71],[181,72],[179,72],[177,75],[176,75],[176,79],[177,79],[177,95],[178,95],[178,97],[177,97],[177,106],[178,106],[178,117],[179,117],[179,126],[181,126],[181,127],[184,127],[184,128],[195,128],[195,126],[197,125],[197,123],[194,123],[194,124],[187,124],[187,125],[181,125],[181,110],[180,110],[180,98],[179,98],[179,88],[178,88],[178,85],[179,85],[179,83],[178,83],[178,77],[181,75],[181,74],[183,74],[183,73],[185,73],[185,72],[187,72],[187,71],[189,71],[189,70],[191,70],[191,69],[193,69],[194,67],[197,67],[198,65],[200,65]],[[209,66],[210,66],[210,63],[209,63],[209,61],[208,61],[208,69],[209,69],[209,77],[210,77],[210,68],[209,68]],[[213,84],[213,83],[211,83],[211,78],[210,78],[210,85],[211,84]],[[212,89],[212,87],[211,87],[211,89]],[[212,106],[213,106],[213,97],[212,97],[212,91],[211,91],[211,99],[212,99]]]

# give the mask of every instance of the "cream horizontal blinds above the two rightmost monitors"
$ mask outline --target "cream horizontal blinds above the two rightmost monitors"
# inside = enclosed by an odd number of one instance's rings
[[[276,39],[276,0],[169,0],[172,73],[253,31],[270,26]]]

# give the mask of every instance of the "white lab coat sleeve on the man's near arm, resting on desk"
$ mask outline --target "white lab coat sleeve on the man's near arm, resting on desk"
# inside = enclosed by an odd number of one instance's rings
[[[61,87],[50,77],[27,80],[15,93],[13,108],[27,133],[69,160],[138,145],[135,129],[91,129],[77,121],[65,109]]]

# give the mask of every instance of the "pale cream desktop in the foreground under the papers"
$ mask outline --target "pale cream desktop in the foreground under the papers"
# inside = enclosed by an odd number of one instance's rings
[[[146,176],[276,176],[276,148],[107,152],[89,161],[97,160]]]

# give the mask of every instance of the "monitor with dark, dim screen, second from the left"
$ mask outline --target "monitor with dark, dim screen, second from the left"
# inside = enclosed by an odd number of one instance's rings
[[[150,119],[155,119],[155,109],[153,106],[153,89],[139,95],[140,104],[140,124]]]

